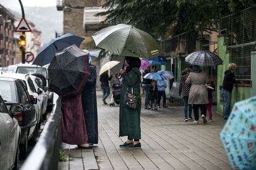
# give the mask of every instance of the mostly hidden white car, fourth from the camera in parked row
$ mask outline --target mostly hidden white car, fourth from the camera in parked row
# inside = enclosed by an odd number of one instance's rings
[[[48,104],[48,94],[47,91],[45,91],[45,87],[43,86],[43,80],[39,78],[38,76],[30,75],[30,78],[33,81],[33,84],[35,85],[35,88],[38,89],[38,94],[42,96],[42,115],[46,115],[46,108]]]

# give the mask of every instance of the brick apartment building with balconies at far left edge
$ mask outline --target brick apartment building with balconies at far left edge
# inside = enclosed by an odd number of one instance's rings
[[[0,67],[15,63],[18,48],[14,38],[14,15],[0,4]]]

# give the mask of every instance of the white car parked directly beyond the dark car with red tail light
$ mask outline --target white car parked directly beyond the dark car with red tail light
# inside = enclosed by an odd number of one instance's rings
[[[38,89],[35,87],[35,84],[33,83],[32,80],[32,75],[23,75],[19,73],[3,73],[0,75],[0,77],[5,77],[5,78],[15,78],[15,79],[20,79],[23,81],[25,84],[25,87],[28,91],[28,94],[30,95],[30,98],[35,98],[36,99],[36,104],[35,104],[35,110],[36,110],[36,127],[40,129],[41,126],[41,120],[43,117],[42,110],[43,110],[43,92],[41,89]],[[36,133],[36,132],[35,132]],[[32,143],[35,143],[33,141]]]

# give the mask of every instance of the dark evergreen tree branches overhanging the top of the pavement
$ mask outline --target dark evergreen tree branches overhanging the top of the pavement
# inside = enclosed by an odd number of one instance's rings
[[[107,0],[105,22],[127,23],[155,38],[184,31],[216,31],[218,20],[254,5],[253,0]]]

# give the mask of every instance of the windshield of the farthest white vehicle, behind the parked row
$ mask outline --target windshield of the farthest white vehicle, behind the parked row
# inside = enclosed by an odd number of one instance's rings
[[[34,73],[39,73],[39,74],[45,76],[46,79],[48,79],[46,68],[41,68],[41,67],[18,67],[16,72],[21,73],[21,74],[28,74],[28,75],[32,75]]]

